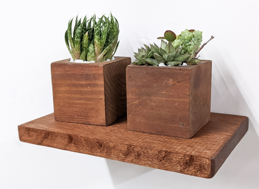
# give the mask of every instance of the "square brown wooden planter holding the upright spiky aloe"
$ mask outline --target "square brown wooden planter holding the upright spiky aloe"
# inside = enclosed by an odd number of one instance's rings
[[[107,126],[126,115],[129,57],[98,63],[69,60],[51,63],[55,120]]]

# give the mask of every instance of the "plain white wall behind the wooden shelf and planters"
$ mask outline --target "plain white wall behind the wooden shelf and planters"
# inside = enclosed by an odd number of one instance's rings
[[[95,3],[96,2],[96,3]],[[211,1],[212,2],[212,1]],[[1,2],[0,188],[258,188],[258,1]],[[64,32],[79,13],[112,11],[117,56],[165,30],[203,31],[211,59],[212,112],[246,115],[249,130],[212,179],[203,179],[19,141],[17,126],[53,112],[50,63],[69,58]]]

